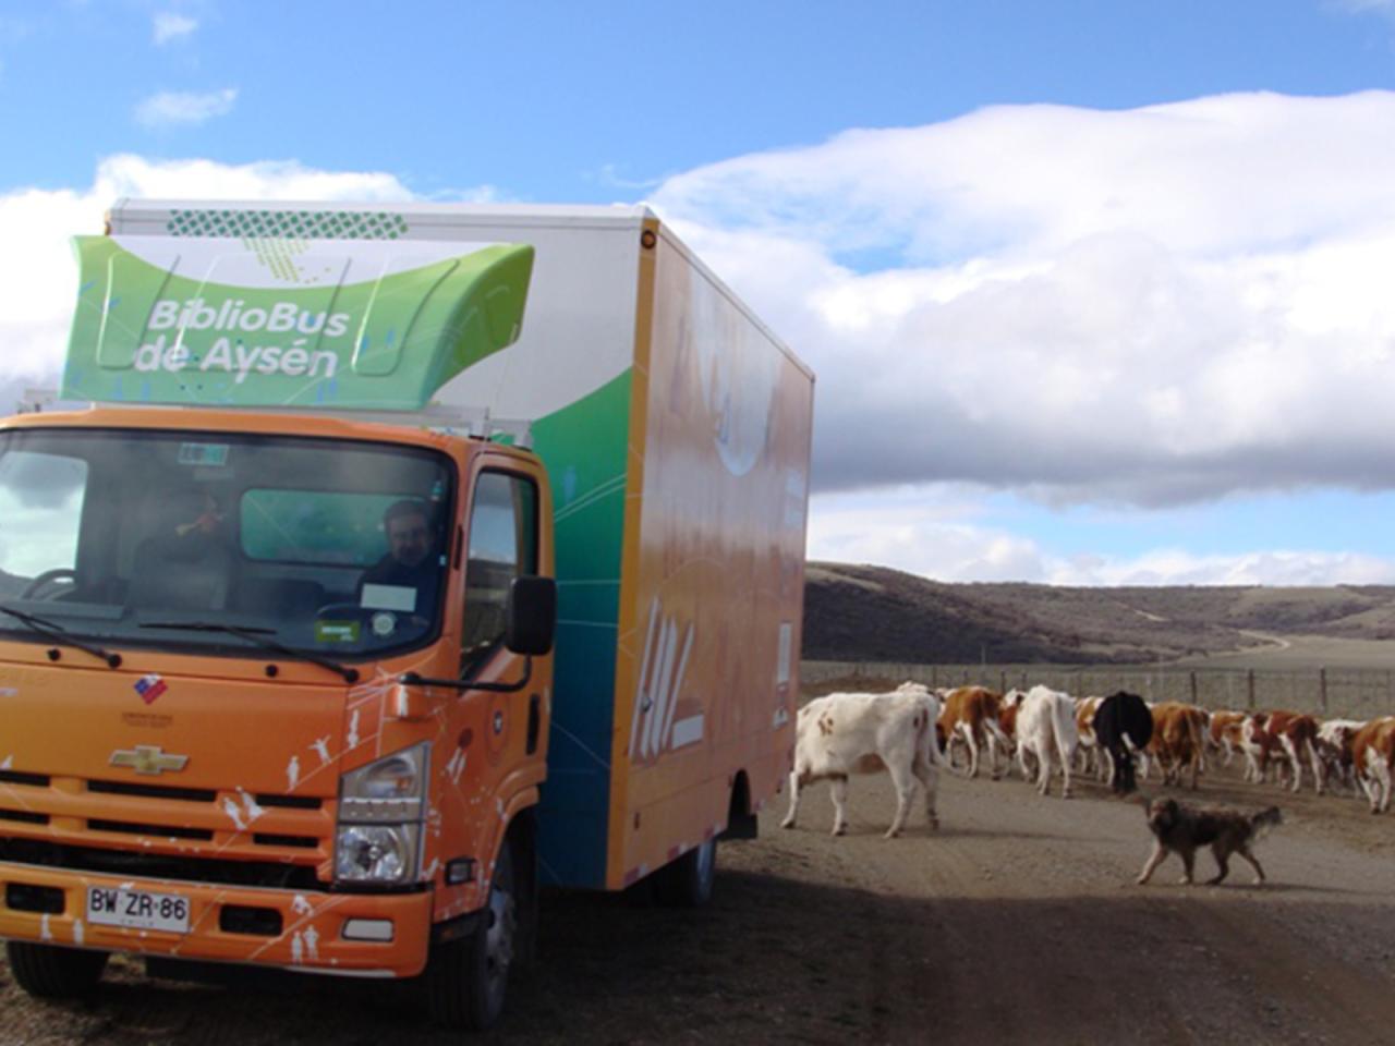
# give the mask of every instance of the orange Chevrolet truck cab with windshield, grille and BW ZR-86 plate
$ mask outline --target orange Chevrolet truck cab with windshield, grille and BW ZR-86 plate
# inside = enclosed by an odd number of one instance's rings
[[[441,1006],[487,1022],[501,999],[470,993],[531,929],[547,773],[537,457],[312,416],[28,414],[0,424],[0,505],[21,985],[78,992],[106,950],[400,978],[456,947],[483,973]]]

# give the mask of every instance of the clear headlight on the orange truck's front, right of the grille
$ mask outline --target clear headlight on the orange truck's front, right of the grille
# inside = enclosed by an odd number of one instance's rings
[[[431,745],[423,742],[339,778],[336,881],[416,881],[430,767]]]

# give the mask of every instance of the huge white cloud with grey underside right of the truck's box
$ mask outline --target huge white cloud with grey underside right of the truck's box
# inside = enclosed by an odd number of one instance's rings
[[[1388,488],[1391,126],[1387,92],[1003,106],[651,202],[817,372],[820,490]]]

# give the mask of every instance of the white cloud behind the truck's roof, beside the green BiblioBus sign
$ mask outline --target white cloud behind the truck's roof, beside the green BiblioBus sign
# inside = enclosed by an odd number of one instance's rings
[[[121,197],[209,199],[402,201],[392,174],[325,172],[296,162],[230,166],[212,160],[155,162],[112,156],[82,190],[20,188],[0,195],[0,414],[24,388],[56,388],[77,298],[70,237],[102,232],[103,211]]]

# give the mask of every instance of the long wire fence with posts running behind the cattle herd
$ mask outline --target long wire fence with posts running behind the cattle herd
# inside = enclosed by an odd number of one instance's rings
[[[804,661],[805,688],[865,681],[896,685],[988,686],[997,692],[1038,683],[1076,697],[1130,690],[1149,702],[1204,708],[1285,708],[1321,717],[1368,720],[1395,714],[1395,672],[1368,668],[1253,669],[1053,665],[918,665],[891,661]]]

